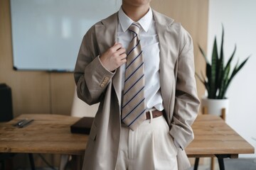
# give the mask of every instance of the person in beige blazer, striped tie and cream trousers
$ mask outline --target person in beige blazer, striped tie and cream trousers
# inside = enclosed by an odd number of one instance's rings
[[[183,149],[193,140],[199,106],[193,43],[149,2],[123,0],[118,13],[96,23],[82,40],[75,65],[78,97],[100,102],[82,169],[190,166]],[[132,67],[137,69],[130,72]]]

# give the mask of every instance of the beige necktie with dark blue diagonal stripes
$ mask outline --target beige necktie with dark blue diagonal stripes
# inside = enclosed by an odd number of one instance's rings
[[[132,40],[127,49],[127,63],[124,79],[122,121],[135,130],[146,119],[144,97],[144,61],[139,40],[139,23],[132,23],[129,31]]]

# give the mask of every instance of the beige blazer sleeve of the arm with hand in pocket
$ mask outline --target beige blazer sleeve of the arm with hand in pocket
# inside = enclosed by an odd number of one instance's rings
[[[193,140],[191,125],[196,119],[200,101],[197,96],[193,41],[188,32],[181,27],[178,60],[176,64],[176,95],[174,117],[170,134],[181,148],[186,148]]]

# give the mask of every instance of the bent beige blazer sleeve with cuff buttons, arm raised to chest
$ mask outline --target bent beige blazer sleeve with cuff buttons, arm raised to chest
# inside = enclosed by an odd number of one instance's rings
[[[82,39],[74,72],[78,98],[89,105],[100,102],[114,75],[103,67],[99,53],[95,26],[92,26]]]

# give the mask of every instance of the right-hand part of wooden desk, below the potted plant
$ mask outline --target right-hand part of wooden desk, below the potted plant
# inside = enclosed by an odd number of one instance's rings
[[[198,115],[192,128],[195,139],[186,148],[188,157],[217,157],[220,169],[225,169],[223,158],[255,152],[254,147],[219,116]]]

